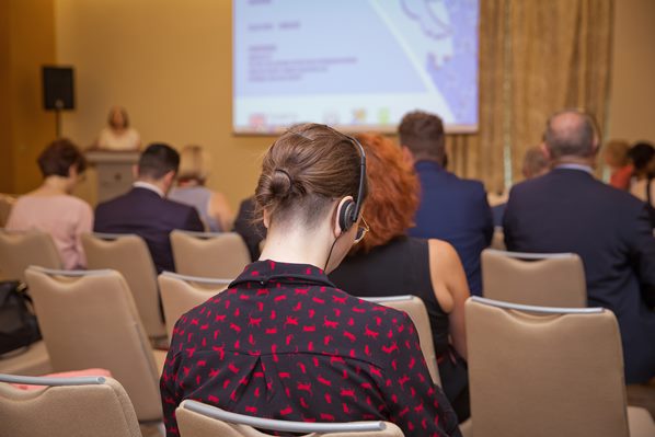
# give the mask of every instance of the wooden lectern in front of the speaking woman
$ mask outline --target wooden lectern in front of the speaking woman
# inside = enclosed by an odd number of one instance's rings
[[[97,172],[97,202],[127,193],[134,183],[133,166],[139,161],[137,151],[89,150],[87,160]]]

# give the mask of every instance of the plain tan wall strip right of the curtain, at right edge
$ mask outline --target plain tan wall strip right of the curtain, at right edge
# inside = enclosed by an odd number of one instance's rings
[[[655,1],[616,0],[609,137],[655,142]]]

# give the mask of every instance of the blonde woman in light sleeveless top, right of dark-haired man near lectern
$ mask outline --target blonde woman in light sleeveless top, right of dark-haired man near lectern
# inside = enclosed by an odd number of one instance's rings
[[[200,146],[182,149],[177,186],[171,189],[169,198],[195,207],[209,231],[226,231],[232,227],[232,211],[222,193],[205,186],[208,161]]]

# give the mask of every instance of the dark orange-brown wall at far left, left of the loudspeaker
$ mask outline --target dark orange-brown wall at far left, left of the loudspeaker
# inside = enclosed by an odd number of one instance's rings
[[[41,67],[54,64],[54,0],[0,2],[0,191],[38,186],[36,158],[55,138],[55,116],[42,107]]]

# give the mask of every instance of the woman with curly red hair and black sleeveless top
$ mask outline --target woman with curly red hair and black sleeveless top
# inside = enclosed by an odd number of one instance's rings
[[[330,279],[355,296],[415,295],[423,299],[444,392],[461,423],[470,415],[464,269],[445,241],[406,235],[418,207],[418,179],[401,149],[379,135],[357,139],[366,151],[370,184],[363,212],[369,231]]]

